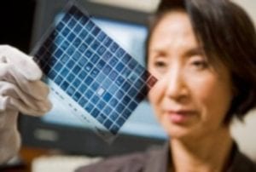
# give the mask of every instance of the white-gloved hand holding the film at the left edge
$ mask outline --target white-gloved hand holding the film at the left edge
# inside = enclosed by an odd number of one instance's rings
[[[49,89],[40,81],[42,72],[32,57],[8,45],[0,45],[0,163],[20,148],[18,113],[41,116],[51,104]]]

